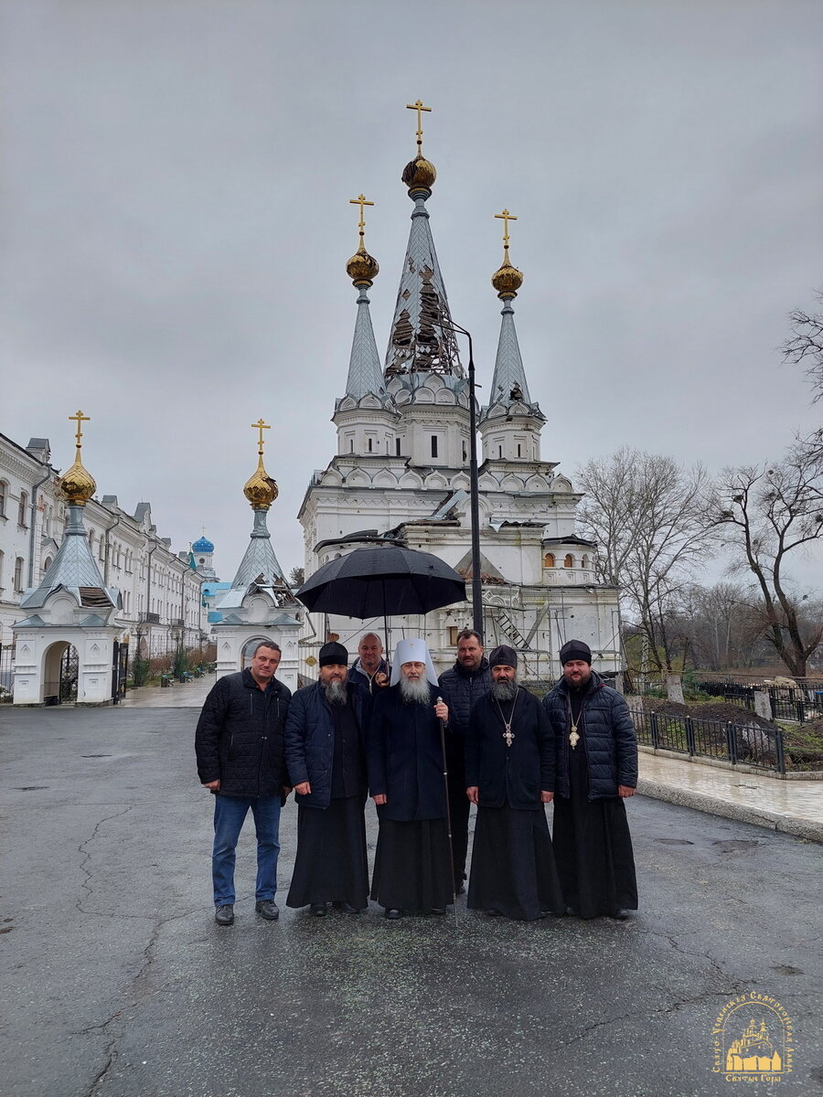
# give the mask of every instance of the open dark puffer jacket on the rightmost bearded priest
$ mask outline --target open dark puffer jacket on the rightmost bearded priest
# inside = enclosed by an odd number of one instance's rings
[[[555,792],[568,795],[568,732],[572,709],[568,683],[561,678],[543,698],[555,734],[556,773]],[[625,701],[616,689],[606,686],[602,678],[591,672],[588,690],[583,699],[582,740],[577,749],[586,751],[588,766],[588,799],[616,796],[618,785],[638,787],[638,737]]]

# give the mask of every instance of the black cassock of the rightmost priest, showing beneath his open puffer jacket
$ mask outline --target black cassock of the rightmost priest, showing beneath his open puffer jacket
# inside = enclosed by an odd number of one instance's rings
[[[580,703],[572,691],[575,717]],[[566,903],[582,918],[613,917],[621,907],[638,909],[629,821],[620,796],[588,799],[585,711],[577,733],[577,746],[567,751],[570,795],[554,798],[554,855]]]

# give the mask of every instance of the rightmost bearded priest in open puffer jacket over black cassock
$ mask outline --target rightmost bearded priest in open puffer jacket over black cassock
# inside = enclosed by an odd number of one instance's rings
[[[591,669],[591,649],[570,640],[563,677],[543,699],[557,745],[554,856],[568,914],[623,920],[638,909],[624,801],[638,785],[638,739],[617,690]]]

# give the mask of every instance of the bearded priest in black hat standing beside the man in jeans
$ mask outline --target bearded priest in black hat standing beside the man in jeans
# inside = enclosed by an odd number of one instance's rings
[[[297,856],[288,906],[330,905],[359,914],[369,905],[363,811],[368,793],[365,725],[371,699],[348,683],[349,653],[324,644],[319,681],[293,695],[284,747],[297,801]]]

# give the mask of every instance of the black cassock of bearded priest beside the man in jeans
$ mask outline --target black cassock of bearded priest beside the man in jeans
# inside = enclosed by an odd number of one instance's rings
[[[334,722],[331,799],[328,807],[297,807],[297,856],[288,906],[369,905],[365,852],[365,759],[351,704],[330,705]]]

